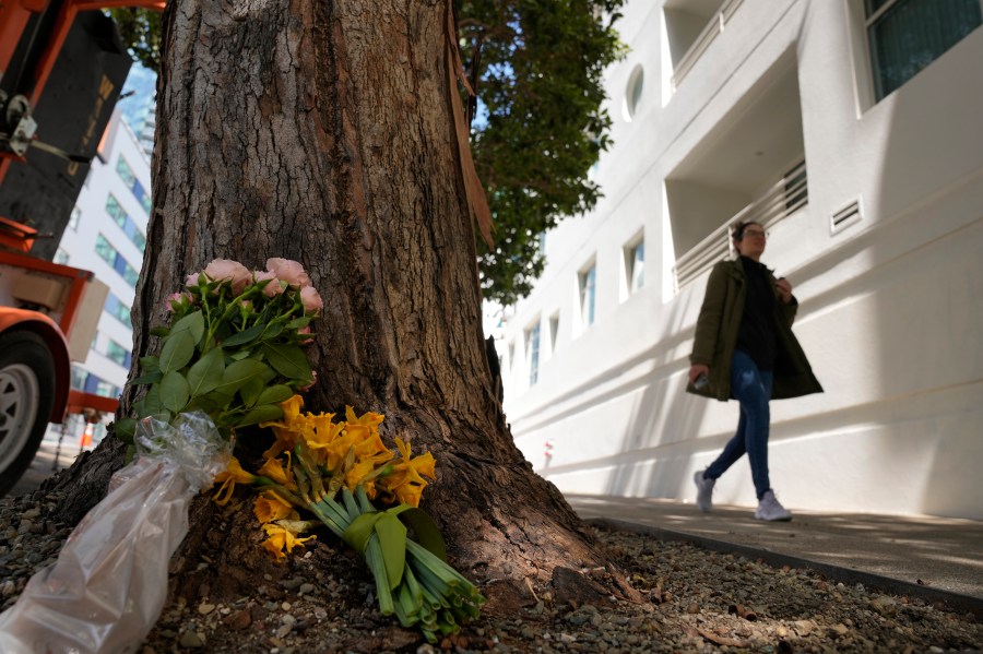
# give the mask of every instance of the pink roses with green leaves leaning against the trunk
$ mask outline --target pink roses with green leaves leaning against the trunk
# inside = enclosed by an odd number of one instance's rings
[[[142,357],[130,382],[146,387],[137,418],[116,424],[123,441],[132,442],[137,419],[169,423],[194,411],[228,437],[280,419],[280,403],[313,384],[303,346],[322,301],[296,261],[269,259],[265,271],[250,271],[215,259],[166,302],[169,324],[153,331],[159,354]]]

